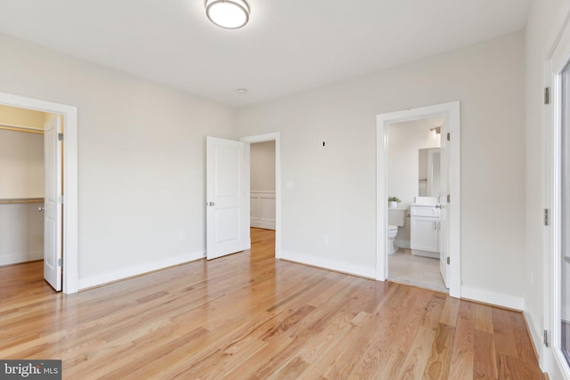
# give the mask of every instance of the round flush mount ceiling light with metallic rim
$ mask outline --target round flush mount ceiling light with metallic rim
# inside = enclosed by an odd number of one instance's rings
[[[206,0],[206,15],[218,27],[237,29],[249,20],[249,6],[244,0]]]

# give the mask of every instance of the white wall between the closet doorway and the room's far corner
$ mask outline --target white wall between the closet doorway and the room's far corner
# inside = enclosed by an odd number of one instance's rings
[[[79,286],[201,257],[206,136],[236,137],[235,110],[11,36],[0,49],[4,93],[77,106]]]

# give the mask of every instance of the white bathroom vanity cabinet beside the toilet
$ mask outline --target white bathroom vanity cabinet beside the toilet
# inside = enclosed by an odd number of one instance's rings
[[[411,205],[411,255],[439,258],[441,223],[436,205]]]

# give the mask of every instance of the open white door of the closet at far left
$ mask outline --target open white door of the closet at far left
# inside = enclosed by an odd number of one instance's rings
[[[61,117],[45,123],[44,278],[61,291]]]

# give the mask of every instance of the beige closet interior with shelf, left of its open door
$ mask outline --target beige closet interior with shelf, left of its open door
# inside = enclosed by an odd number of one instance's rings
[[[43,112],[0,106],[0,265],[44,257]]]

